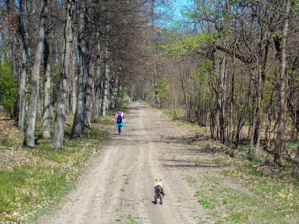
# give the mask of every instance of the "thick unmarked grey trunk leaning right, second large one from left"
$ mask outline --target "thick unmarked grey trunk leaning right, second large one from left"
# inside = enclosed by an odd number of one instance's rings
[[[36,49],[34,53],[34,62],[31,71],[31,93],[28,114],[28,122],[26,124],[24,145],[25,146],[35,146],[34,143],[34,131],[35,131],[35,121],[37,113],[37,104],[39,100],[39,73],[40,66],[42,63],[43,47],[45,41],[46,33],[46,22],[48,13],[48,3],[47,0],[40,1],[41,13],[39,19],[39,31],[36,43]]]

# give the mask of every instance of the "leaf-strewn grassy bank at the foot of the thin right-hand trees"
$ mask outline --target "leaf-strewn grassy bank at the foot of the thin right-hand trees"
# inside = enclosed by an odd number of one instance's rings
[[[293,145],[296,147],[296,144]],[[299,222],[299,186],[290,181],[292,162],[283,158],[284,166],[274,167],[271,165],[271,154],[263,153],[260,159],[254,159],[248,156],[247,151],[247,145],[241,145],[238,151],[234,152],[235,158],[217,154],[220,160],[215,162],[225,164],[220,175],[238,178],[239,182],[254,194],[262,196],[271,205],[273,211],[270,213],[277,217],[277,220],[290,218]],[[292,152],[291,147],[289,151]],[[259,206],[264,209],[263,205]]]

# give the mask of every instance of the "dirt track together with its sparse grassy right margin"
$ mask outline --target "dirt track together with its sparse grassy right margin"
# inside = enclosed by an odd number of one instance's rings
[[[125,116],[122,135],[112,130],[65,202],[34,223],[298,222],[297,210],[285,210],[279,200],[276,206],[222,175],[224,165],[215,162],[204,136],[194,139],[141,102],[131,104]],[[156,178],[163,180],[164,205],[153,203]]]

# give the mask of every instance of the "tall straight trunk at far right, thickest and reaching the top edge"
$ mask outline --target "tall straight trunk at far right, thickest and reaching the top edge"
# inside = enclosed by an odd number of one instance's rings
[[[282,150],[282,139],[283,139],[283,128],[284,120],[286,115],[286,92],[285,92],[285,75],[286,75],[286,41],[289,30],[289,11],[290,11],[290,0],[286,0],[286,13],[284,15],[284,27],[283,35],[281,40],[281,70],[280,70],[280,115],[279,123],[277,128],[275,147],[274,147],[274,165],[280,164],[281,150]]]

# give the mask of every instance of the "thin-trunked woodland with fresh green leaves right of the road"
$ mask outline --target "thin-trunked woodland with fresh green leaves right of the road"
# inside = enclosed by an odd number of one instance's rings
[[[149,47],[141,99],[205,127],[205,135],[260,158],[293,158],[298,174],[298,2],[195,1]]]

